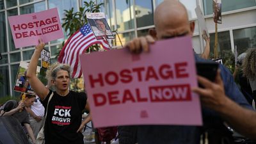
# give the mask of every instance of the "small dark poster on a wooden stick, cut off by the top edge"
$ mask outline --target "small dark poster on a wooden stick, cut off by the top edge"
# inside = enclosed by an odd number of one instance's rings
[[[212,1],[212,11],[214,22],[221,24],[221,0]]]

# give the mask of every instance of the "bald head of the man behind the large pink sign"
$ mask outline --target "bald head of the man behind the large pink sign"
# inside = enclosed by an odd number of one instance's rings
[[[195,23],[189,22],[185,6],[177,0],[163,1],[154,13],[156,29],[149,33],[155,40],[193,35]]]

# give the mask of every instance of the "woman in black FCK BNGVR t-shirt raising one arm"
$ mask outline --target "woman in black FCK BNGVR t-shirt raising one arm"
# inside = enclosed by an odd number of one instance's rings
[[[84,126],[81,125],[83,109],[90,110],[86,93],[69,90],[70,66],[60,63],[51,67],[51,84],[54,86],[55,92],[44,86],[36,77],[38,59],[45,45],[41,39],[39,43],[36,45],[29,63],[27,77],[31,87],[42,100],[44,108],[47,108],[44,125],[45,144],[83,144],[83,134],[78,130],[79,127]],[[52,93],[52,99],[47,106]],[[90,114],[87,118],[91,118]]]

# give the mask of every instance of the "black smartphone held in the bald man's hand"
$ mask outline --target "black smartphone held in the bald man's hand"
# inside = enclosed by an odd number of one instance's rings
[[[210,81],[214,81],[216,78],[219,63],[214,61],[202,61],[196,62],[196,72],[199,76],[206,77]]]

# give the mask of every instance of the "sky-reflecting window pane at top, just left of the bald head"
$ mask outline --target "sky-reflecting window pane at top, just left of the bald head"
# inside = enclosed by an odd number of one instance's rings
[[[136,0],[135,15],[137,27],[151,26],[153,20],[153,4],[152,0]]]

